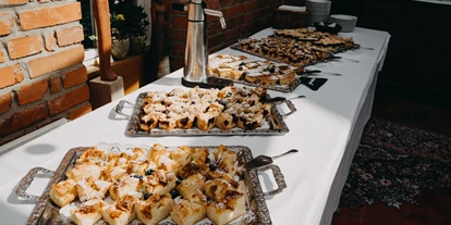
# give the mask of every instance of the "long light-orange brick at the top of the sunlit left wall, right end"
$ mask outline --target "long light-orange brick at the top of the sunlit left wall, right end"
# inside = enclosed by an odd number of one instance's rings
[[[19,12],[21,28],[24,30],[54,26],[82,18],[80,2],[46,7]]]

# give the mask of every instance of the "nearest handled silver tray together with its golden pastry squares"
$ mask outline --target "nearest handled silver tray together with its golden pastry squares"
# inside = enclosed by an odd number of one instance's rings
[[[243,146],[153,147],[101,143],[68,151],[57,171],[32,168],[15,193],[37,201],[27,224],[271,224],[265,197],[287,184],[277,165],[244,170]],[[271,170],[277,188],[258,178]],[[51,175],[41,196],[27,193]]]

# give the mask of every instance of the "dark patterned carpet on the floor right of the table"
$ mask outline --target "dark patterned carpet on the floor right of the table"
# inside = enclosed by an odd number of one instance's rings
[[[450,138],[371,118],[332,224],[451,224],[450,173]]]

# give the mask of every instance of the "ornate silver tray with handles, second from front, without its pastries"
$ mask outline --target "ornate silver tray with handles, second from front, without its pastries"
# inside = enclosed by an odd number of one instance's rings
[[[181,129],[174,128],[172,130],[166,130],[160,128],[154,128],[151,130],[142,130],[139,129],[139,117],[142,114],[141,107],[143,105],[144,98],[148,95],[148,92],[142,92],[136,98],[136,103],[133,107],[132,115],[126,115],[122,112],[124,104],[132,104],[129,101],[122,100],[115,107],[115,112],[130,117],[129,124],[126,126],[126,134],[130,136],[199,136],[199,135],[221,135],[221,136],[230,136],[230,135],[283,135],[289,132],[289,128],[283,122],[283,116],[291,115],[296,111],[296,108],[290,100],[283,101],[287,103],[290,112],[287,114],[281,115],[276,107],[276,103],[271,103],[271,116],[264,120],[264,124],[261,127],[257,127],[256,129],[241,129],[241,128],[233,128],[230,130],[222,130],[220,128],[212,128],[209,130],[200,130],[197,127],[193,126],[190,129]],[[270,97],[268,96],[268,99]],[[281,103],[281,102],[280,102]]]

